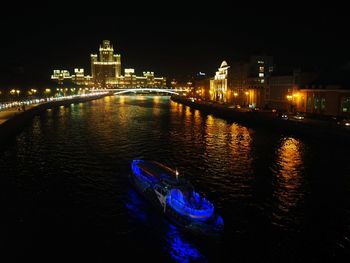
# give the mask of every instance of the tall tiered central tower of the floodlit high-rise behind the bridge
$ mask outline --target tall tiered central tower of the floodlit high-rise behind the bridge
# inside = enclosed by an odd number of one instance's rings
[[[121,76],[120,54],[114,54],[109,40],[103,40],[99,57],[91,54],[91,75],[95,86],[108,87],[117,84]]]

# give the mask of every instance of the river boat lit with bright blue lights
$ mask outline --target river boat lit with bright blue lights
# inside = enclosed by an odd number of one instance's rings
[[[133,160],[131,171],[132,184],[175,224],[195,233],[222,234],[224,222],[214,205],[176,170],[155,161]]]

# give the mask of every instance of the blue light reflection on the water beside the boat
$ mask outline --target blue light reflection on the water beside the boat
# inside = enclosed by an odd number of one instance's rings
[[[154,238],[159,239],[162,248],[173,261],[207,262],[206,257],[182,236],[176,226],[165,220],[163,215],[152,211],[152,207],[132,188],[128,189],[126,208],[135,223],[147,226],[156,235]]]

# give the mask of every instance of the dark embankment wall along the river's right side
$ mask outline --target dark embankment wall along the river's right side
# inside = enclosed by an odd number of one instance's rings
[[[234,109],[218,103],[195,101],[180,96],[172,96],[171,100],[205,114],[234,121],[252,128],[265,128],[274,132],[308,137],[317,140],[330,140],[350,144],[350,128],[341,127],[336,122],[313,119],[282,119],[276,112]]]

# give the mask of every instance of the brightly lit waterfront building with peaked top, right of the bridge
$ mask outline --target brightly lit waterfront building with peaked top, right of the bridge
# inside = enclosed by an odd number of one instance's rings
[[[210,96],[211,100],[226,102],[227,86],[228,86],[228,66],[224,60],[218,71],[216,71],[213,79],[210,80]]]

